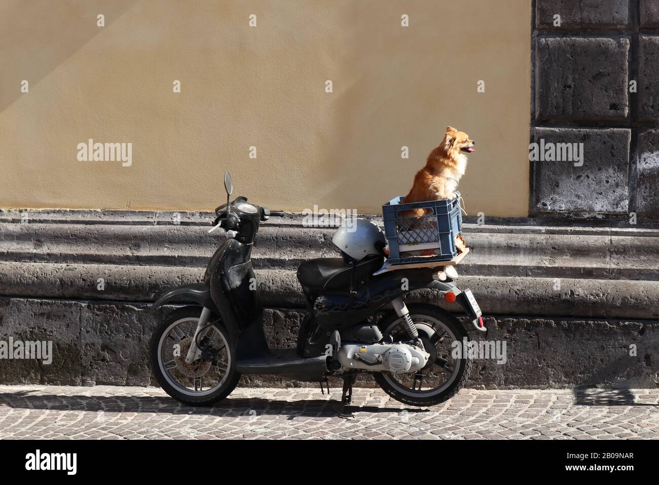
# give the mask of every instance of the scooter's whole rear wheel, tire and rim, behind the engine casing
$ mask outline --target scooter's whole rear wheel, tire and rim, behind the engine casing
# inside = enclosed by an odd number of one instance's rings
[[[426,351],[431,354],[433,362],[432,364],[429,362],[428,368],[424,368],[417,373],[395,375],[390,372],[376,372],[374,373],[375,380],[384,392],[401,403],[410,406],[434,406],[435,404],[444,403],[444,401],[455,396],[467,383],[472,366],[469,353],[463,355],[463,358],[452,358],[453,352],[447,350],[445,344],[447,343],[449,349],[452,349],[453,342],[457,341],[461,344],[460,348],[462,348],[464,339],[469,342],[469,334],[451,313],[438,306],[410,304],[407,307],[418,330],[419,337],[422,338]],[[393,313],[382,319],[378,326],[385,335],[395,336],[394,341],[396,341],[396,337],[406,338],[402,331],[402,323],[403,319]],[[448,340],[444,341],[445,339]],[[428,344],[434,345],[434,352],[428,350]],[[436,344],[444,345],[436,348]],[[446,375],[445,381],[441,383],[439,379],[436,379],[438,384],[436,387],[423,389],[423,378],[432,375],[435,367],[440,368],[442,374]],[[421,377],[420,381],[418,375]],[[409,386],[410,379],[412,380],[411,387]],[[406,380],[407,382],[405,382]],[[417,382],[419,389],[416,389]]]

